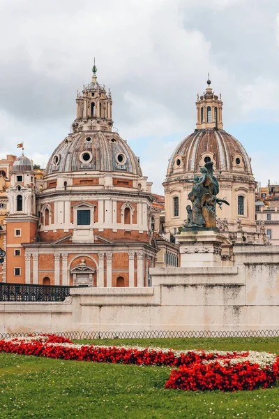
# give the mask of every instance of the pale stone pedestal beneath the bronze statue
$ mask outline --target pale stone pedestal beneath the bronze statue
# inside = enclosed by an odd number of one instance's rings
[[[227,238],[217,229],[184,228],[176,235],[180,244],[181,267],[222,266],[222,244]]]

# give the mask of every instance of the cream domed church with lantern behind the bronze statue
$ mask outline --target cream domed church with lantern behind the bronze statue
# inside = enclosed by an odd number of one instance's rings
[[[169,159],[165,188],[165,230],[178,233],[187,219],[188,193],[194,175],[200,174],[204,163],[212,161],[214,175],[220,186],[219,198],[229,206],[217,205],[217,217],[223,233],[234,242],[262,242],[256,230],[255,188],[250,158],[232,135],[223,130],[223,101],[214,94],[207,81],[204,95],[197,96],[197,128],[174,150]],[[227,223],[223,223],[223,221]],[[239,234],[237,234],[239,233]]]

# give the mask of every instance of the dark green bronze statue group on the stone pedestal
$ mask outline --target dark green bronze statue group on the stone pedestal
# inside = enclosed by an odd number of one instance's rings
[[[213,175],[213,162],[205,163],[204,168],[200,169],[201,176],[194,176],[193,179],[186,182],[193,182],[192,191],[188,198],[193,204],[193,210],[190,205],[186,207],[188,212],[187,223],[184,227],[190,228],[214,228],[216,227],[216,204],[221,207],[223,203],[229,205],[226,200],[217,198],[219,193],[219,184]]]

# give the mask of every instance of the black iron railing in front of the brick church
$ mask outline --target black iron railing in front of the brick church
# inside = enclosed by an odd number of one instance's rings
[[[70,286],[0,283],[0,301],[64,301]]]

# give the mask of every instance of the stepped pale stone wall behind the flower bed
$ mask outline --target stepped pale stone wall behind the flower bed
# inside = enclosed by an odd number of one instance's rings
[[[234,247],[233,258],[233,266],[152,268],[151,287],[0,302],[0,332],[279,330],[279,248]]]

